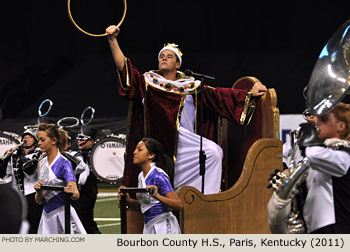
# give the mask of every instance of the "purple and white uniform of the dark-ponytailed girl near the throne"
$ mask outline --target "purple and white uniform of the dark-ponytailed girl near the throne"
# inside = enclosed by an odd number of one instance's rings
[[[145,188],[148,185],[158,187],[158,193],[165,196],[173,191],[168,175],[155,163],[151,163],[151,170],[146,177],[143,172],[138,177],[138,187]],[[137,193],[137,200],[141,205],[141,212],[144,216],[144,234],[180,234],[180,226],[171,208],[159,200],[149,196],[148,193]]]

